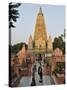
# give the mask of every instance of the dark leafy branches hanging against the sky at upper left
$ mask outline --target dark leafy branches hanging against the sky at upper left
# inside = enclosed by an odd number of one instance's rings
[[[13,22],[17,21],[17,18],[19,18],[19,13],[16,8],[20,6],[20,3],[13,4],[12,2],[9,3],[9,29],[15,28],[13,25]],[[13,21],[13,22],[12,22]]]

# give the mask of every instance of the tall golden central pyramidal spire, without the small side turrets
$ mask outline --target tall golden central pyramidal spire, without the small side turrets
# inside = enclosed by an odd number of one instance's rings
[[[46,48],[46,41],[47,41],[46,25],[42,8],[40,7],[36,19],[34,32],[35,48]]]

